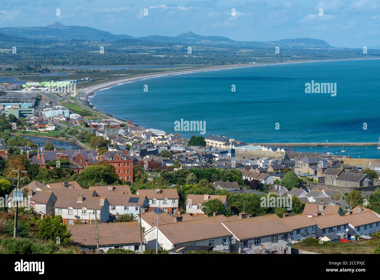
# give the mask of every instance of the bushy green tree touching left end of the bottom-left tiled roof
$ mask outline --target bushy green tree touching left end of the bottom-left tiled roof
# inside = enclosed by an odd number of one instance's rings
[[[37,235],[41,239],[58,242],[63,246],[71,245],[71,234],[66,224],[62,224],[62,216],[44,216],[37,223]]]

